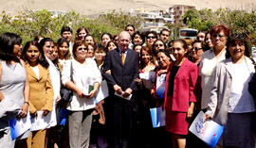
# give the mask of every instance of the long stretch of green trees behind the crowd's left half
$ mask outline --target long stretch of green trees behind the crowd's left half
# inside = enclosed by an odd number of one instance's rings
[[[32,40],[37,35],[57,41],[61,37],[60,31],[64,25],[70,26],[73,32],[78,27],[85,26],[96,41],[100,41],[101,34],[104,32],[114,35],[123,30],[125,25],[132,24],[136,27],[141,25],[138,17],[122,11],[119,13],[113,11],[98,19],[90,19],[75,11],[53,17],[52,13],[46,9],[38,11],[25,9],[13,17],[3,11],[0,19],[0,33],[7,31],[17,33],[24,42]]]

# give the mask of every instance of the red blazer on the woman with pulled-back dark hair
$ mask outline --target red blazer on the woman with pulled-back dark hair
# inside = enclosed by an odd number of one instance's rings
[[[166,75],[166,90],[165,90],[165,103],[167,101],[169,77],[174,62],[170,64],[168,73]],[[188,58],[184,60],[177,74],[174,77],[174,95],[173,95],[173,111],[187,112],[190,107],[190,102],[196,102],[194,95],[194,87],[198,76],[196,64],[192,63]]]

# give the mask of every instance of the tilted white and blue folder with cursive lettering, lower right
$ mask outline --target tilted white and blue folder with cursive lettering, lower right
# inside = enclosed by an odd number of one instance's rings
[[[200,140],[209,144],[210,147],[215,147],[223,133],[224,127],[212,120],[205,121],[205,119],[205,113],[200,111],[189,130]]]

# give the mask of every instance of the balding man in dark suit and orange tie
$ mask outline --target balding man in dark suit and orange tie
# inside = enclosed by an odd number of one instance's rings
[[[130,40],[130,34],[122,31],[119,34],[119,47],[107,53],[103,65],[102,76],[108,83],[110,94],[106,100],[106,126],[110,136],[110,148],[132,147],[134,117],[133,103],[129,97],[136,90],[138,55],[128,48]]]

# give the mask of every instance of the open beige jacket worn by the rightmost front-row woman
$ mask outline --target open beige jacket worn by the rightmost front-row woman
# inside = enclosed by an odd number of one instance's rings
[[[246,57],[247,68],[252,75],[255,70],[252,61]],[[229,97],[231,91],[232,77],[230,74],[232,60],[225,59],[217,64],[213,74],[213,85],[210,91],[206,114],[220,124],[226,124],[229,113]]]

